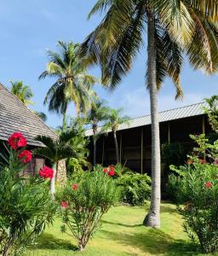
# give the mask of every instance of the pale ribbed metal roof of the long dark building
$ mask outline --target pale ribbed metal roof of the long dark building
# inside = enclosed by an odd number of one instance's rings
[[[206,102],[199,102],[186,107],[174,108],[159,113],[159,122],[165,122],[175,119],[183,119],[191,116],[204,114],[202,107],[206,106]],[[140,127],[144,125],[151,125],[151,115],[141,116],[135,119],[129,119],[129,124],[123,124],[119,126],[118,131],[129,128]],[[100,131],[100,129],[99,129]],[[92,136],[93,131],[89,129],[86,131],[86,136]]]

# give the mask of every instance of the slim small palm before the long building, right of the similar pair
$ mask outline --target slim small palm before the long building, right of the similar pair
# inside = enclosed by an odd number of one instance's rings
[[[115,143],[115,149],[116,149],[117,164],[120,162],[117,131],[118,131],[119,125],[122,125],[123,123],[128,124],[128,120],[129,120],[129,117],[121,116],[121,113],[123,113],[123,108],[110,109],[109,113],[107,114],[106,123],[104,124],[102,129],[103,131],[106,131],[106,132],[110,130],[112,131],[114,143]]]

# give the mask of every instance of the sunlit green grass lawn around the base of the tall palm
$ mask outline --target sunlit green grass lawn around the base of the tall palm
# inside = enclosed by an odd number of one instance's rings
[[[60,219],[56,219],[26,255],[200,255],[184,233],[174,205],[162,204],[161,229],[141,225],[146,210],[147,207],[113,207],[83,253],[76,251],[75,240],[60,232]]]

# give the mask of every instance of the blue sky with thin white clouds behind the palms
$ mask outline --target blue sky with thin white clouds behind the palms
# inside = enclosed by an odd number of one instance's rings
[[[48,61],[46,49],[55,49],[58,40],[82,42],[97,25],[100,17],[87,20],[95,0],[0,0],[0,81],[9,86],[9,80],[22,80],[34,92],[35,109],[47,113],[43,98],[53,81],[38,82],[37,77]],[[108,92],[100,86],[95,89],[112,108],[124,108],[130,117],[149,113],[149,95],[145,89],[146,48],[135,60],[135,65],[118,89]],[[97,68],[90,73],[99,75]],[[217,94],[217,75],[208,77],[193,71],[186,63],[181,74],[185,97],[175,101],[175,89],[169,79],[159,92],[159,110],[201,102],[204,97]],[[75,115],[70,106],[69,114]],[[61,117],[48,113],[48,125],[60,125]]]

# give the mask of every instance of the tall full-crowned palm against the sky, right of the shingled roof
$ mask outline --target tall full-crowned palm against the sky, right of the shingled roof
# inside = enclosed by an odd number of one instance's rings
[[[83,61],[78,58],[79,44],[59,41],[58,47],[60,53],[48,51],[49,63],[39,79],[56,79],[47,92],[44,104],[49,103],[49,111],[63,114],[62,127],[65,130],[69,102],[75,103],[77,113],[85,112],[89,108],[89,98],[94,94],[92,86],[97,79],[87,73]]]

